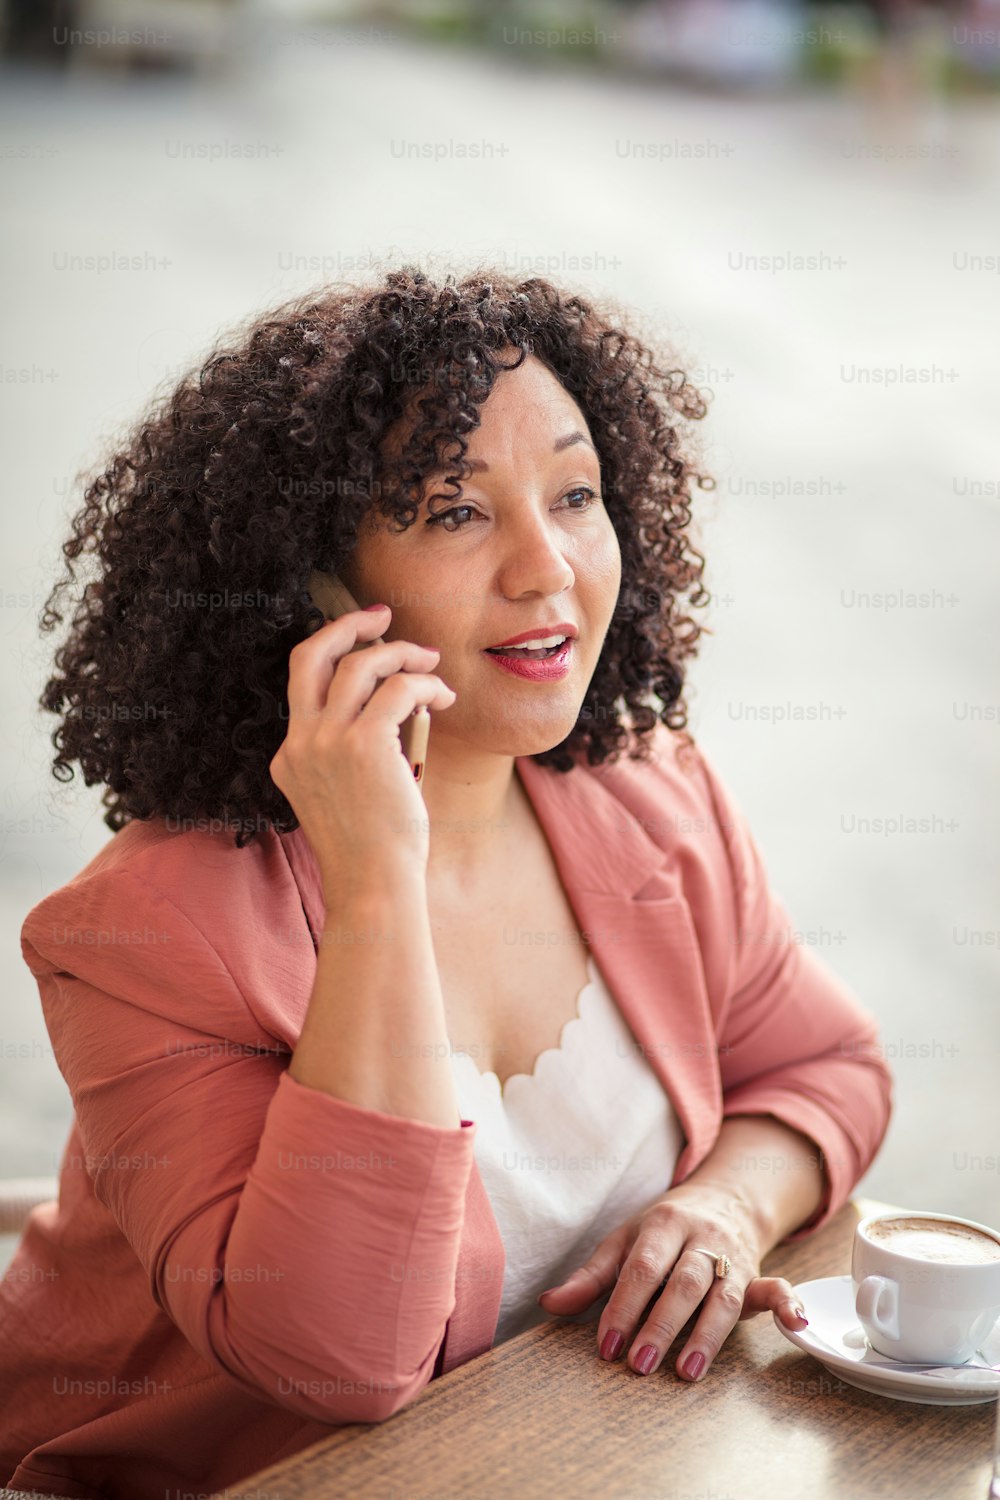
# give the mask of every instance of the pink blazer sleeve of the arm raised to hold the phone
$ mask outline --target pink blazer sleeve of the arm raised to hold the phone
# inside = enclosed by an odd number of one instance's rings
[[[313,1420],[412,1400],[454,1306],[475,1126],[289,1077],[195,920],[132,873],[54,892],[21,945],[94,1194],[184,1338]]]

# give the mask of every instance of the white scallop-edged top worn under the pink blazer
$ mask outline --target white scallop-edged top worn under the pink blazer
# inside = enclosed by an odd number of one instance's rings
[[[507,1266],[495,1344],[552,1314],[537,1304],[627,1218],[666,1192],[684,1132],[609,993],[594,956],[558,1047],[501,1090],[469,1053],[451,1052],[462,1118]],[[609,1288],[573,1322],[595,1322]]]

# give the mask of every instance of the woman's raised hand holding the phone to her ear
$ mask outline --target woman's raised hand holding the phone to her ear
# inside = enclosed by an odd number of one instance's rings
[[[439,652],[381,640],[391,610],[352,609],[292,646],[288,734],[270,762],[316,856],[331,900],[400,872],[427,870],[427,808],[402,753],[399,726],[421,704],[456,694],[433,666]]]

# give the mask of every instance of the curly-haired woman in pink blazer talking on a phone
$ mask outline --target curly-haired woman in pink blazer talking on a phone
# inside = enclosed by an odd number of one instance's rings
[[[90,484],[42,702],[115,837],[22,928],[76,1118],[0,1293],[9,1484],[235,1484],[546,1316],[625,1378],[802,1326],[760,1260],[889,1077],[682,732],[702,414],[582,297],[405,268]]]

